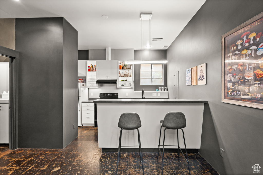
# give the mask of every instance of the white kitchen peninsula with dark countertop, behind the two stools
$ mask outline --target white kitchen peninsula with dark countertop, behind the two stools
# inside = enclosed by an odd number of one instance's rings
[[[186,118],[184,128],[186,148],[199,149],[203,125],[204,103],[200,99],[97,99],[98,142],[100,148],[118,148],[120,128],[119,117],[124,112],[138,113],[142,148],[158,148],[160,120],[171,111],[183,112]],[[126,134],[126,133],[129,134]],[[168,129],[166,145],[177,145],[176,130]],[[163,139],[163,131],[161,140]],[[135,130],[124,130],[122,145],[138,145]],[[182,132],[179,132],[179,146],[184,148]],[[132,148],[132,147],[131,147]],[[176,148],[176,147],[165,147]]]

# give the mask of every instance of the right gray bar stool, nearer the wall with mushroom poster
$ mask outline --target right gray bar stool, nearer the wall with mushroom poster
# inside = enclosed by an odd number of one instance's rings
[[[160,124],[161,124],[161,129],[160,129],[157,160],[159,158],[159,151],[161,152],[160,146],[163,146],[163,160],[162,160],[162,174],[163,174],[164,146],[177,146],[178,147],[178,161],[180,160],[179,149],[181,150],[181,148],[179,146],[178,129],[181,129],[183,131],[182,128],[184,128],[186,126],[185,115],[182,112],[168,112],[165,115],[164,119],[160,121]],[[164,145],[164,142],[163,142],[163,145],[160,145],[162,127],[165,128],[164,129],[164,138],[165,138],[165,130],[166,129],[176,129],[177,130],[177,144],[178,145]],[[184,137],[184,131],[183,131],[183,137]],[[185,156],[184,156],[184,153],[182,150],[181,150],[181,153],[183,154],[184,159],[187,162],[188,171],[189,171],[189,175],[190,175],[190,168],[189,168],[188,156],[187,156],[187,151],[186,151],[186,146],[185,146],[185,139],[184,139],[184,147],[185,147],[185,152],[186,152],[186,159],[185,159]]]

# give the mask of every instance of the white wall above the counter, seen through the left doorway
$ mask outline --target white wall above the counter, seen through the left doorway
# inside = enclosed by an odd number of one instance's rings
[[[0,93],[9,90],[9,62],[0,62]],[[0,96],[1,98],[1,96]]]

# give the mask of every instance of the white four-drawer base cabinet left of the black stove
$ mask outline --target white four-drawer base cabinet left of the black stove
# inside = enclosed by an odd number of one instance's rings
[[[83,126],[94,126],[95,117],[94,103],[82,103],[82,123]]]

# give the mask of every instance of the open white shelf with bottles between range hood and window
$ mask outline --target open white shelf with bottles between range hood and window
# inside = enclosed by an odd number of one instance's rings
[[[134,79],[133,79],[133,65],[126,64],[125,61],[118,61],[119,69],[118,69],[118,88],[133,88],[134,87]],[[124,66],[125,65],[125,66]]]

